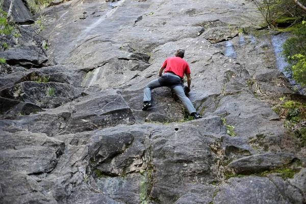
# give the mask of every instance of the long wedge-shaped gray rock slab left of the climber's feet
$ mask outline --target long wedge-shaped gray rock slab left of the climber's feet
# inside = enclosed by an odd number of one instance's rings
[[[120,92],[111,90],[80,97],[64,106],[29,117],[21,117],[19,122],[17,129],[21,124],[32,132],[55,136],[104,129],[120,124],[128,125],[133,124],[135,120]],[[14,129],[15,125],[7,126],[6,130]]]

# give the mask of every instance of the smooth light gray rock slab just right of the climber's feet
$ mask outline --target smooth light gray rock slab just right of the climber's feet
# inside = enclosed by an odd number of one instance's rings
[[[214,114],[223,115],[227,125],[235,126],[234,132],[239,137],[250,138],[258,134],[278,135],[285,132],[279,116],[268,104],[252,94],[241,93],[223,97]],[[279,127],[275,129],[277,124]]]

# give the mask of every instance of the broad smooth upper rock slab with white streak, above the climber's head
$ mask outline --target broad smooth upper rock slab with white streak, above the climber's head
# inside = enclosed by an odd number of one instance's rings
[[[69,12],[66,12],[67,8]],[[237,9],[241,11],[239,15],[236,13]],[[128,14],[125,12],[127,10]],[[83,14],[84,11],[86,13]],[[133,4],[125,1],[91,4],[68,2],[50,7],[44,14],[47,20],[44,22],[46,28],[42,35],[53,45],[48,50],[50,57],[54,57],[59,63],[70,61],[75,63],[77,60],[78,65],[83,65],[83,60],[80,59],[82,56],[88,56],[89,58],[85,59],[88,62],[85,66],[91,67],[95,66],[93,64],[96,64],[97,60],[101,62],[102,59],[107,59],[105,58],[107,56],[116,55],[115,50],[121,47],[120,44],[135,42],[131,46],[137,52],[151,52],[166,42],[196,37],[202,29],[201,25],[205,27],[206,24],[216,20],[222,21],[225,25],[239,25],[243,22],[244,27],[253,28],[257,23],[254,24],[251,19],[261,19],[256,7],[244,1],[192,4],[185,2],[164,4],[150,1]],[[176,16],[181,17],[177,19]],[[59,24],[62,26],[57,27]],[[87,29],[81,29],[85,25]],[[100,32],[101,29],[103,33]],[[58,38],[58,32],[66,38]],[[66,43],[70,46],[65,46]],[[115,49],[116,44],[119,46]]]

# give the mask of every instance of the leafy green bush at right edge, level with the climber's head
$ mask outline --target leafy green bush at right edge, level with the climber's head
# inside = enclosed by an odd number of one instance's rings
[[[288,38],[283,44],[282,55],[288,66],[285,72],[301,86],[306,86],[306,23],[293,32],[293,37]]]

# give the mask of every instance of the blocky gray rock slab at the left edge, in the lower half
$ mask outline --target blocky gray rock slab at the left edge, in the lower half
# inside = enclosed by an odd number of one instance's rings
[[[2,132],[1,140],[1,170],[26,174],[52,171],[64,149],[63,142],[31,132]]]

